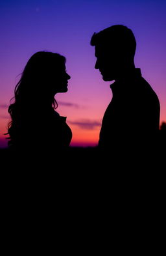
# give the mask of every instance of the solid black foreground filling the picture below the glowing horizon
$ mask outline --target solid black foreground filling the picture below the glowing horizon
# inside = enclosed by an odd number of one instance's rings
[[[1,150],[1,232],[6,250],[12,247],[20,255],[32,250],[51,255],[53,249],[65,255],[161,255],[161,152],[144,156],[140,151],[128,155],[71,148],[64,154],[32,156]]]

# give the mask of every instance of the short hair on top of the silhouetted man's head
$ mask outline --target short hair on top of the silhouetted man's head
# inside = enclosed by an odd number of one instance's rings
[[[91,46],[102,44],[113,51],[121,51],[134,57],[136,52],[136,38],[131,29],[124,25],[113,25],[99,33],[94,33],[91,37]]]

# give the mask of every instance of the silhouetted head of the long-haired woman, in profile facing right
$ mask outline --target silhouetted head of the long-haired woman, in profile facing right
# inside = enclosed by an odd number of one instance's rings
[[[31,96],[54,96],[58,92],[67,92],[65,57],[48,51],[38,51],[27,62],[20,83],[21,91]]]

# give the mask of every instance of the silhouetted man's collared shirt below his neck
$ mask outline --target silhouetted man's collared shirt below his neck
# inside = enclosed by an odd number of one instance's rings
[[[146,137],[159,130],[160,103],[152,87],[135,68],[110,85],[112,101],[102,119],[99,147],[112,147]]]

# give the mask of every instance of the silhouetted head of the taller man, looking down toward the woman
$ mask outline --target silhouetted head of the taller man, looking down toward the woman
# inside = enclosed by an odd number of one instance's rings
[[[94,33],[91,46],[95,46],[95,68],[100,70],[104,81],[118,79],[134,66],[136,39],[124,25],[113,25]]]

